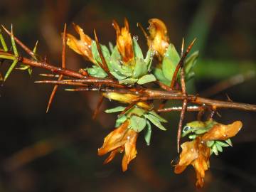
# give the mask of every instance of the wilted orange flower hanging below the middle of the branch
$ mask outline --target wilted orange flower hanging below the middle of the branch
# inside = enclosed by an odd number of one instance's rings
[[[127,171],[127,166],[132,159],[136,157],[136,142],[138,133],[133,129],[128,129],[129,121],[124,122],[120,127],[114,129],[104,139],[103,146],[98,149],[98,155],[102,156],[111,151],[110,156],[104,161],[104,164],[109,163],[114,159],[114,156],[124,151],[122,159],[122,171]]]

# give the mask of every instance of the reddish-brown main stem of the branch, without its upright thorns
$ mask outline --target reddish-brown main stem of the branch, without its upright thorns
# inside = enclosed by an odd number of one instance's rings
[[[11,53],[5,53],[0,50],[0,55],[12,55]],[[14,55],[12,55],[14,56]],[[129,92],[134,95],[142,96],[144,94],[143,100],[183,100],[187,99],[188,102],[198,105],[209,105],[215,107],[216,109],[230,108],[236,110],[245,110],[245,111],[255,111],[256,105],[230,102],[230,101],[220,101],[220,100],[211,100],[203,97],[198,97],[198,95],[187,95],[183,96],[179,90],[173,90],[171,92],[166,90],[153,90],[150,88],[136,88],[136,87],[127,87],[120,85],[117,81],[112,79],[103,79],[103,78],[94,78],[91,76],[82,75],[75,70],[68,70],[67,68],[55,67],[54,65],[46,62],[31,60],[29,58],[19,57],[20,62],[26,65],[30,65],[35,68],[43,68],[49,70],[51,73],[56,73],[58,75],[64,75],[68,78],[75,78],[70,80],[41,80],[37,82],[42,82],[46,84],[55,84],[55,85],[77,85],[77,86],[87,86],[95,85],[100,83],[100,85],[105,85],[107,87],[113,87],[112,92]],[[97,85],[96,85],[97,86]],[[104,89],[97,89],[97,91],[104,92]],[[140,92],[140,93],[139,93]],[[143,93],[143,94],[142,94]],[[146,97],[145,97],[146,96]],[[159,112],[167,112],[168,110],[159,110]]]

